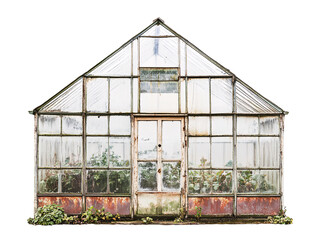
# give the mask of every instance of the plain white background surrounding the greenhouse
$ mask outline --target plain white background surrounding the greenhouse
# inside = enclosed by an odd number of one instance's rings
[[[318,237],[318,10],[316,1],[307,0],[1,1],[1,235],[10,239]],[[290,112],[285,124],[284,201],[293,225],[27,224],[33,215],[34,186],[33,116],[28,111],[157,17]]]

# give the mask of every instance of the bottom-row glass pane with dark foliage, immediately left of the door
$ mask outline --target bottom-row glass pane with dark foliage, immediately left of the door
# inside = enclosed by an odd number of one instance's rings
[[[131,174],[129,170],[110,171],[109,183],[111,193],[129,193]]]

